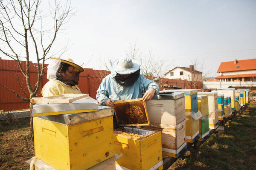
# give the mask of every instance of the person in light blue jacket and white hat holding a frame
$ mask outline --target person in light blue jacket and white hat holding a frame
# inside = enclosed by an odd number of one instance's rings
[[[158,93],[158,85],[140,74],[140,65],[124,57],[112,63],[111,74],[102,80],[96,98],[100,105],[113,106],[113,102],[127,99],[143,98],[145,102]]]

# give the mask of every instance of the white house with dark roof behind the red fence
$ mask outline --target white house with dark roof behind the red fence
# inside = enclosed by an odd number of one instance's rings
[[[194,65],[175,67],[164,74],[166,79],[186,79],[188,81],[202,82],[202,72],[195,70]]]

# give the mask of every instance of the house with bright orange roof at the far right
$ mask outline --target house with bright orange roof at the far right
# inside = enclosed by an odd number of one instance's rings
[[[219,82],[255,82],[256,59],[221,62],[217,73]]]

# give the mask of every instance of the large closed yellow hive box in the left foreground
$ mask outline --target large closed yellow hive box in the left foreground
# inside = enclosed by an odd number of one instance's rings
[[[113,108],[33,117],[35,156],[58,170],[93,167],[114,156]]]

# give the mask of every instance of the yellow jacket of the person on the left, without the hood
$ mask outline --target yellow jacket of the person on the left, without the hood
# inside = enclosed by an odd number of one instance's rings
[[[75,86],[65,85],[63,82],[51,79],[42,88],[43,97],[54,96],[58,94],[81,94],[80,89]]]

